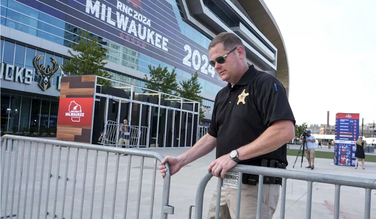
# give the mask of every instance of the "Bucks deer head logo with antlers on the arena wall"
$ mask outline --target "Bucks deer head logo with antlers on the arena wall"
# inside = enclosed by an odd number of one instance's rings
[[[59,62],[55,58],[51,57],[51,65],[45,66],[45,64],[39,65],[39,61],[43,59],[44,55],[35,56],[33,59],[33,66],[35,68],[36,74],[39,75],[39,87],[46,91],[51,87],[51,79],[55,77],[56,72],[59,70]]]

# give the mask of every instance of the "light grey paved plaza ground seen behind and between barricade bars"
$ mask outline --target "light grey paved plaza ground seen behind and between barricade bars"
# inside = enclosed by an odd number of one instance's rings
[[[79,150],[78,162],[77,162],[77,177],[76,186],[74,191],[73,199],[73,179],[74,179],[74,169],[75,169],[75,159],[76,159],[76,148],[70,149],[69,157],[67,157],[67,148],[61,148],[61,161],[58,165],[59,160],[59,147],[52,147],[51,145],[46,145],[46,150],[44,154],[44,165],[42,170],[42,160],[43,160],[43,148],[44,145],[32,143],[31,147],[29,143],[26,143],[24,147],[20,144],[19,153],[17,155],[17,169],[14,175],[14,164],[15,164],[15,151],[12,152],[12,159],[9,162],[7,152],[7,157],[2,160],[0,165],[3,165],[5,161],[4,179],[9,180],[9,184],[3,184],[2,193],[2,205],[0,216],[4,215],[5,201],[7,199],[8,205],[7,214],[11,214],[11,200],[14,199],[13,214],[17,213],[17,203],[20,200],[20,207],[18,214],[20,218],[23,218],[23,214],[30,218],[30,213],[33,214],[32,218],[38,218],[37,213],[39,212],[39,218],[44,218],[46,209],[49,214],[53,214],[54,206],[56,205],[55,214],[61,218],[62,208],[64,203],[64,217],[71,218],[71,206],[73,206],[72,218],[80,218],[80,213],[82,210],[83,218],[111,218],[112,212],[114,212],[114,218],[123,218],[124,214],[124,203],[125,203],[125,193],[126,193],[126,182],[127,182],[127,167],[129,156],[119,157],[119,171],[118,180],[115,184],[115,173],[116,173],[116,163],[117,156],[114,153],[108,154],[108,166],[107,174],[105,175],[105,159],[106,153],[100,151],[98,153],[97,159],[97,169],[96,169],[96,181],[93,184],[93,175],[95,167],[95,151],[88,151],[87,160],[87,170],[86,170],[86,180],[85,185],[83,185],[84,179],[84,168],[85,168],[85,150]],[[38,156],[35,156],[36,148],[38,147]],[[22,177],[21,176],[21,158],[22,158],[22,148],[24,148],[24,158],[22,165]],[[50,152],[53,148],[53,156],[50,156]],[[326,148],[327,149],[327,148]],[[28,154],[30,150],[30,162],[28,162]],[[167,148],[167,149],[152,149],[150,151],[156,151],[163,156],[171,155],[178,156],[188,149],[186,148]],[[69,165],[66,166],[67,158],[69,159]],[[170,188],[170,205],[174,206],[174,214],[170,215],[168,218],[187,218],[188,210],[191,204],[195,202],[196,190],[199,181],[207,173],[207,168],[209,163],[211,163],[215,158],[215,151],[209,153],[205,157],[198,159],[197,161],[191,163],[188,166],[182,168],[176,175],[171,178],[171,188]],[[50,168],[50,159],[52,159],[52,169],[50,178],[50,183],[48,183],[48,175]],[[367,157],[366,157],[367,159]],[[295,157],[288,157],[289,165],[288,169],[293,169],[293,162]],[[35,165],[36,162],[36,165]],[[8,175],[8,164],[11,164],[11,169]],[[154,205],[153,205],[153,215],[150,217],[150,200],[152,199],[152,180],[153,180],[153,167],[155,160],[150,158],[144,159],[144,170],[142,177],[142,187],[141,196],[138,198],[139,191],[139,178],[140,178],[140,165],[141,158],[132,156],[132,163],[130,168],[130,182],[129,182],[129,195],[127,201],[127,218],[137,218],[138,200],[139,204],[139,218],[159,218],[161,213],[161,199],[162,199],[162,185],[163,180],[159,171],[156,171],[156,184],[155,184],[155,195],[154,195]],[[333,160],[330,159],[315,159],[315,169],[310,170],[304,168],[307,165],[306,161],[303,162],[303,167],[300,168],[300,159],[298,159],[296,168],[297,171],[309,171],[309,172],[321,172],[328,174],[338,174],[338,175],[348,175],[355,177],[364,178],[376,178],[376,163],[365,163],[365,170],[353,167],[345,166],[335,166],[333,165]],[[157,164],[157,168],[159,162]],[[58,186],[56,190],[56,175],[59,167]],[[28,169],[29,168],[29,169]],[[66,169],[68,170],[66,172]],[[35,171],[36,170],[36,171]],[[35,173],[35,174],[34,174]],[[43,174],[41,174],[43,173]],[[29,174],[27,176],[27,174]],[[66,174],[66,175],[65,175]],[[15,176],[15,177],[14,177]],[[43,176],[43,178],[41,178]],[[1,175],[0,175],[1,177]],[[27,177],[29,177],[27,179]],[[33,183],[33,178],[35,177],[35,183]],[[68,181],[64,184],[64,178],[67,177]],[[21,190],[19,188],[19,183],[21,179]],[[104,181],[104,179],[106,179]],[[105,183],[106,186],[103,186]],[[48,185],[50,186],[48,187]],[[27,192],[26,192],[27,185]],[[94,185],[94,187],[93,187]],[[204,206],[203,206],[203,218],[206,218],[208,211],[209,201],[211,199],[212,193],[216,189],[217,180],[212,178],[209,181],[208,186],[205,190]],[[66,186],[66,193],[64,194],[64,187]],[[117,187],[116,192],[115,186]],[[6,193],[8,187],[8,193]],[[34,192],[32,188],[35,188]],[[14,188],[15,192],[12,193]],[[40,189],[41,188],[41,189]],[[85,190],[83,189],[85,188]],[[105,191],[103,189],[105,188]],[[49,189],[49,192],[47,192]],[[307,183],[305,181],[298,180],[288,180],[287,181],[287,193],[286,193],[286,213],[285,218],[305,218],[306,216],[306,190]],[[84,193],[84,198],[82,202],[82,192]],[[92,198],[92,191],[94,191],[94,198]],[[47,193],[49,194],[48,199]],[[8,196],[6,195],[8,194]],[[27,196],[25,196],[27,194]],[[358,189],[352,187],[341,187],[341,202],[340,202],[340,218],[352,219],[352,218],[362,218],[364,217],[364,194],[365,189]],[[39,196],[40,195],[40,196]],[[104,196],[103,196],[104,195]],[[114,199],[115,195],[115,199]],[[41,197],[39,205],[39,197]],[[56,197],[56,203],[55,203]],[[65,197],[65,201],[63,202]],[[375,201],[376,191],[372,191],[371,202]],[[26,198],[26,204],[24,202]],[[72,205],[72,200],[74,200]],[[102,202],[103,200],[103,202]],[[115,201],[114,201],[115,200]],[[47,205],[47,206],[46,206]],[[81,205],[83,208],[81,208]],[[103,208],[102,208],[103,206]],[[371,205],[371,215],[376,215],[376,205]],[[92,210],[92,215],[91,215]],[[194,210],[194,209],[193,209]],[[323,183],[313,183],[313,194],[312,194],[312,219],[329,219],[333,218],[334,213],[334,185],[323,184]],[[280,215],[280,203],[277,207],[276,213],[273,219],[278,219]],[[47,218],[52,218],[48,216]]]

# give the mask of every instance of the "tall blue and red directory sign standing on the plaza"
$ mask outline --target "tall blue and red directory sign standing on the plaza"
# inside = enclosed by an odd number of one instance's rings
[[[334,164],[355,166],[355,142],[359,136],[359,113],[337,113]]]

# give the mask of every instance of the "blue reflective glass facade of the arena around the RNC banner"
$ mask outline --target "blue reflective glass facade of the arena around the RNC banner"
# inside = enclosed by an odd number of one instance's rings
[[[167,0],[167,2],[171,4],[174,12],[173,14],[175,16],[174,18],[168,19],[177,20],[179,29],[178,31],[183,33],[187,38],[193,40],[194,42],[197,42],[197,44],[201,45],[202,47],[208,48],[211,39],[199,30],[192,27],[190,24],[186,23],[182,16],[179,1]],[[206,5],[210,6],[210,2],[206,2]],[[0,0],[0,25],[4,25],[12,29],[28,33],[30,35],[37,36],[39,38],[60,45],[64,45],[66,47],[71,47],[71,44],[76,43],[79,39],[77,35],[78,31],[80,30],[79,27],[74,26],[70,23],[66,23],[63,20],[52,17],[48,14],[45,14],[44,12],[33,9],[15,0]],[[132,50],[116,42],[110,41],[106,38],[102,38],[92,33],[90,35],[92,38],[97,38],[99,41],[98,44],[100,44],[101,47],[106,48],[108,50],[106,53],[106,60],[108,60],[109,62],[114,62],[119,65],[126,66],[127,68],[138,70],[145,74],[149,74],[148,65],[161,65],[162,68],[167,67],[168,71],[172,71],[173,69],[173,66],[167,65],[166,63],[154,59],[148,56],[147,54],[139,53],[138,51]],[[35,55],[38,54],[45,55],[45,58],[42,60],[44,62],[45,60],[49,60],[49,57],[55,57],[55,59],[57,59],[59,63],[64,63],[69,60],[69,57],[64,57],[60,54],[51,53],[50,51],[45,51],[42,48],[34,48],[29,45],[23,45],[18,42],[15,43],[0,38],[0,60],[4,63],[14,64],[15,66],[23,66],[28,69],[33,69],[32,59]],[[112,69],[106,69],[106,71],[110,72],[112,79],[117,80],[119,82],[126,82],[141,87],[145,86],[145,82],[141,78],[135,78],[123,74],[122,72],[113,71]],[[177,82],[182,80],[188,80],[192,76],[191,73],[182,71],[181,69],[175,69],[175,72],[177,74]],[[70,75],[70,72],[64,73],[65,75]],[[35,71],[33,72],[33,74],[34,82],[39,82],[39,77],[35,74]],[[59,69],[59,71],[56,73],[56,76],[53,78],[52,86],[56,87],[56,83],[58,83],[58,76],[61,76],[61,69]],[[199,78],[199,82],[202,86],[201,92],[211,95],[213,97],[215,97],[218,91],[221,88],[223,88],[223,86],[219,86],[215,83],[209,82],[202,78]],[[119,86],[119,83],[114,82],[113,85]],[[2,91],[3,89],[0,89],[0,93],[3,94]],[[136,92],[141,92],[141,90]],[[9,95],[12,95],[12,97],[16,97],[20,94]],[[20,95],[20,97],[22,95]],[[12,100],[11,96],[9,96],[9,98],[9,100]],[[21,100],[14,99],[12,101],[14,101],[14,104],[17,104],[18,101]],[[11,109],[10,104],[13,103],[12,101],[10,101],[8,105],[4,105],[2,102],[1,105],[5,106],[2,108]],[[50,102],[51,101],[52,100],[50,100]],[[6,130],[8,131],[12,131],[12,124],[16,123],[19,124],[18,131],[23,131],[26,127],[37,127],[38,131],[40,132],[39,129],[41,127],[43,128],[46,125],[47,127],[49,127],[49,122],[46,122],[46,119],[48,120],[50,114],[47,113],[45,107],[50,105],[52,106],[51,103],[47,103],[43,100],[43,98],[38,99],[37,97],[35,97],[30,100],[27,98],[23,98],[22,104],[25,104],[25,106],[29,106],[29,114],[32,115],[30,116],[29,120],[26,121],[26,116],[23,115],[19,116],[18,120],[10,119],[10,116],[14,112],[9,112],[8,117],[5,118],[6,113],[2,113],[2,123],[0,123],[0,125],[6,125]],[[38,113],[36,110],[37,106],[39,106],[40,109]],[[213,100],[203,101],[202,108],[205,110],[205,112],[211,113],[213,106]],[[57,108],[58,107],[56,106],[56,109]],[[3,120],[6,122],[3,122]]]

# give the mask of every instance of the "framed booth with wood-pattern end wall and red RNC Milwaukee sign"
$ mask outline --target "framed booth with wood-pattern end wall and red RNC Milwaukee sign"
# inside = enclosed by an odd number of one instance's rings
[[[113,86],[99,85],[99,79]],[[197,101],[100,76],[65,76],[56,139],[116,146],[126,118],[130,147],[191,147],[198,140],[199,109]]]

